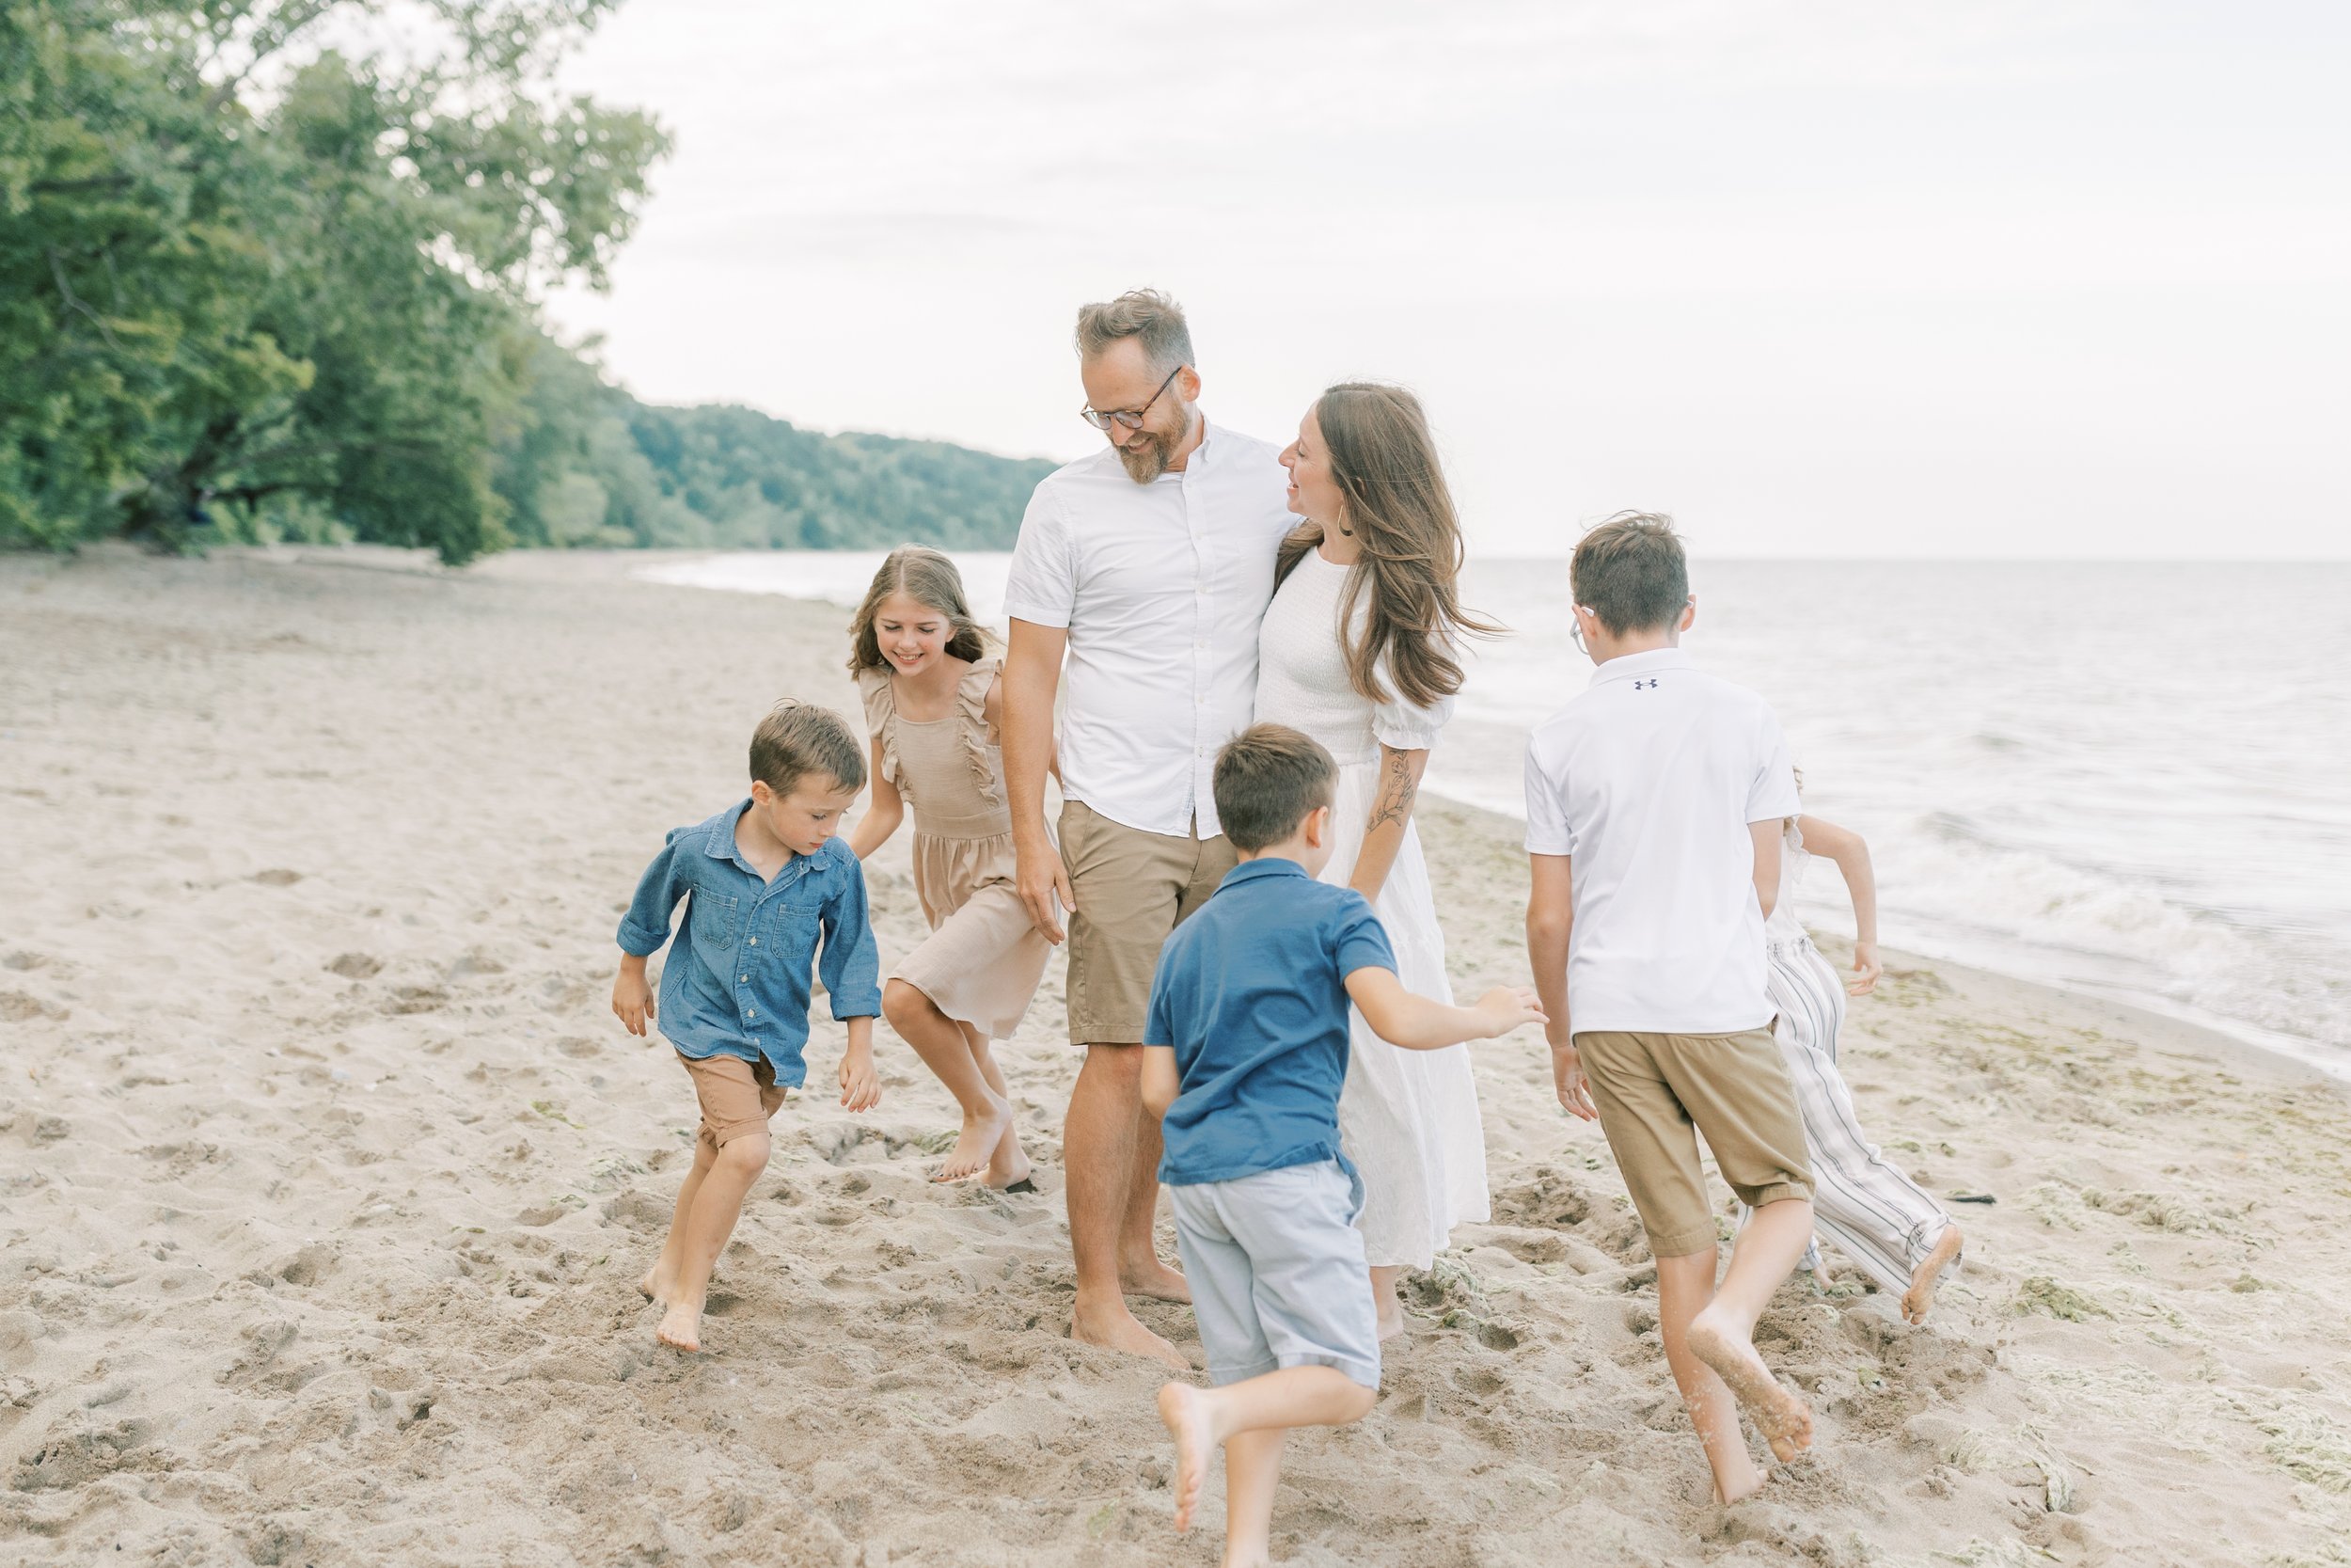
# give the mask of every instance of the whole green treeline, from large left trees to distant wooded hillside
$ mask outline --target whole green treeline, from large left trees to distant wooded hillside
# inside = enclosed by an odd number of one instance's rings
[[[665,150],[555,87],[611,2],[0,0],[0,545],[1004,543],[1039,463],[545,336]]]

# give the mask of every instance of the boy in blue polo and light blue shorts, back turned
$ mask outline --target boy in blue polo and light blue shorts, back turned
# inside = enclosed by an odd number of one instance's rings
[[[1476,1006],[1404,990],[1364,896],[1314,879],[1335,778],[1331,752],[1281,724],[1218,755],[1215,813],[1241,863],[1159,952],[1143,1034],[1143,1103],[1166,1128],[1159,1180],[1215,1382],[1159,1389],[1176,1528],[1223,1446],[1227,1568],[1267,1561],[1284,1432],[1361,1420],[1380,1389],[1364,1187],[1338,1145],[1347,1001],[1406,1051],[1542,1023],[1531,990]]]

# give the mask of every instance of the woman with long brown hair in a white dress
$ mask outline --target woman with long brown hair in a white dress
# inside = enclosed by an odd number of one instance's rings
[[[1460,642],[1498,628],[1462,611],[1460,520],[1420,400],[1347,381],[1281,454],[1302,517],[1258,632],[1258,719],[1302,729],[1340,764],[1324,882],[1380,912],[1396,978],[1453,999],[1413,797],[1462,684]],[[1483,1222],[1486,1133],[1469,1048],[1399,1051],[1354,1020],[1340,1140],[1364,1180],[1364,1251],[1380,1338],[1404,1331],[1396,1279]]]

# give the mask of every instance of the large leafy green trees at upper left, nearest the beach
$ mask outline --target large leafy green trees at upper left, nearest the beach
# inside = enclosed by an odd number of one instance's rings
[[[536,294],[602,282],[663,150],[550,89],[607,0],[0,2],[0,538],[240,510],[465,559]],[[402,7],[411,9],[411,7]]]

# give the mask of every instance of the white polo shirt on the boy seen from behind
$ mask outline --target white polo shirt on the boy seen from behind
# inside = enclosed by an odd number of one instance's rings
[[[1568,1027],[1770,1023],[1749,823],[1796,816],[1780,719],[1681,649],[1610,658],[1526,738],[1526,849],[1570,856]]]

